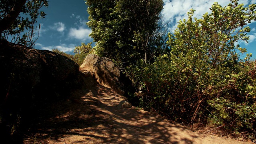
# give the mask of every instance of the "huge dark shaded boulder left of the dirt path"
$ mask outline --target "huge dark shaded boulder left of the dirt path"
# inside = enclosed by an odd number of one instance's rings
[[[0,70],[0,129],[28,120],[78,86],[79,66],[72,60],[6,41],[0,42]]]

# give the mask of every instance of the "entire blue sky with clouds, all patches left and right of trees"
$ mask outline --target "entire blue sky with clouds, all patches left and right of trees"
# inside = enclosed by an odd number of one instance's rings
[[[196,10],[195,17],[200,18],[205,12],[210,12],[209,8],[214,2],[222,6],[230,3],[229,0],[163,0],[164,10],[162,14],[166,21],[170,22],[170,32],[177,27],[180,19],[187,18],[189,9]],[[254,4],[256,0],[240,0],[239,3],[245,5]],[[39,19],[41,24],[40,37],[36,41],[35,48],[52,50],[58,48],[67,53],[72,53],[75,46],[81,42],[92,42],[88,35],[91,30],[85,24],[88,22],[87,6],[84,0],[49,0],[48,8],[42,8],[47,15],[44,19]],[[249,44],[240,42],[242,47],[247,48],[248,53],[252,53],[252,59],[256,59],[256,22],[250,25],[252,29]]]

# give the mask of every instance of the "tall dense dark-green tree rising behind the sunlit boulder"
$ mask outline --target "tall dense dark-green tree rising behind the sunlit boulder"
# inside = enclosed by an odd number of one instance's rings
[[[147,59],[156,52],[156,30],[162,0],[87,0],[90,36],[100,56],[120,66]]]

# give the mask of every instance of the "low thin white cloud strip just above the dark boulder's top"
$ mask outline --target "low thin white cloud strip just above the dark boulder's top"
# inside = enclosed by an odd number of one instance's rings
[[[59,46],[44,46],[44,45],[39,44],[39,43],[35,44],[35,47],[37,49],[52,51],[52,49],[58,48],[62,52],[73,52],[75,46],[76,46],[75,44],[68,44],[68,45],[67,44],[61,44]]]

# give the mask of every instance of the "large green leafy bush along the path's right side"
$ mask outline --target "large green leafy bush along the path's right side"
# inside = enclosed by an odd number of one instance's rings
[[[127,74],[142,84],[137,93],[144,105],[174,120],[225,124],[233,132],[256,128],[256,79],[252,54],[240,59],[250,28],[256,19],[256,4],[244,7],[238,0],[228,6],[212,5],[202,18],[180,20],[168,34],[169,54],[151,65],[130,66]]]

